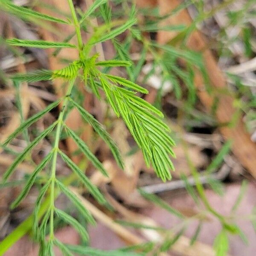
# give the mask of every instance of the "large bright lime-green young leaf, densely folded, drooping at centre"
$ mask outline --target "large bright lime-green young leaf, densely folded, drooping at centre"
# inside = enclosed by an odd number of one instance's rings
[[[106,76],[113,78],[113,76]],[[170,180],[172,176],[169,169],[174,170],[174,166],[169,159],[169,154],[175,157],[172,151],[174,142],[165,132],[169,131],[169,127],[158,116],[154,116],[154,114],[159,116],[163,114],[135,96],[133,92],[114,84],[110,86],[104,79],[101,79],[101,82],[116,115],[122,115],[134,140],[142,149],[147,166],[151,163],[157,177],[163,181]]]

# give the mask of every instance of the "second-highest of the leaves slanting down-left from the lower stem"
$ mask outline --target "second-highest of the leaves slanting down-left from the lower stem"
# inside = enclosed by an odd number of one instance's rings
[[[14,160],[12,165],[8,168],[8,170],[3,175],[3,183],[5,183],[8,177],[12,174],[12,172],[15,171],[15,168],[17,167],[17,165],[25,159],[26,154],[28,154],[32,150],[32,148],[35,147],[35,145],[37,145],[44,137],[46,137],[47,134],[49,134],[52,131],[55,125],[56,125],[56,122],[50,125],[45,131],[43,131],[38,137],[36,137],[35,140],[33,140],[24,149],[24,151]]]

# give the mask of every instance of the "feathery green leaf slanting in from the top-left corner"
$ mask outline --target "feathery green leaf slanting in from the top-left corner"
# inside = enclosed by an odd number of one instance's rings
[[[61,19],[49,16],[49,15],[45,15],[40,12],[35,12],[31,9],[28,9],[28,8],[25,8],[22,6],[17,6],[15,4],[11,3],[10,1],[1,0],[0,2],[3,3],[3,7],[6,9],[6,11],[12,12],[15,15],[25,15],[28,17],[35,17],[35,18],[41,19],[41,20],[48,20],[48,21],[53,21],[53,22],[62,23],[62,24],[69,24],[65,20],[61,20]]]

